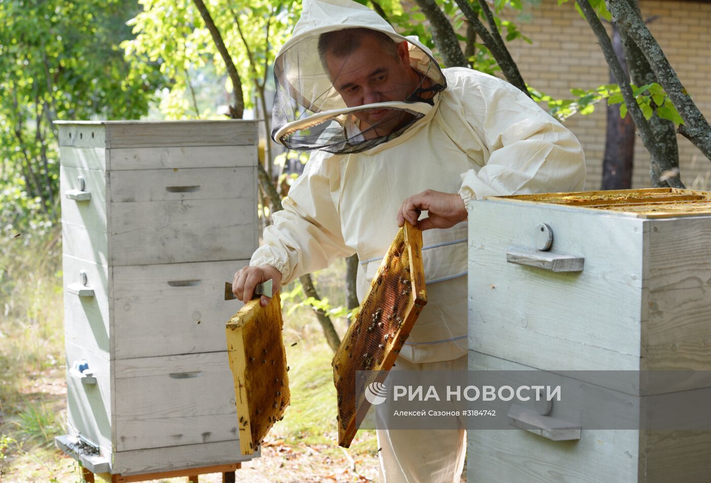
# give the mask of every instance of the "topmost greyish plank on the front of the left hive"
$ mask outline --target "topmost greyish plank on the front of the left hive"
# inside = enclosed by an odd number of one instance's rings
[[[107,122],[107,147],[240,146],[257,143],[257,121]]]

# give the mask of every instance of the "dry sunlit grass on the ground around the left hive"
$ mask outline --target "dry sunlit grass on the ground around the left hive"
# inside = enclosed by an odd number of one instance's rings
[[[339,261],[314,276],[332,306],[345,303],[343,273],[345,263]],[[284,326],[292,404],[268,438],[304,455],[306,466],[315,462],[316,448],[321,465],[328,465],[344,458],[337,443],[333,352],[311,308],[287,301],[284,313],[293,305]],[[334,323],[343,335],[346,320]],[[0,247],[0,482],[81,481],[77,462],[53,447],[54,436],[65,430],[64,361],[60,235],[9,239]],[[375,433],[358,433],[348,455],[372,472]],[[294,481],[301,471],[285,467],[274,481]],[[213,480],[220,481],[217,475],[201,477]]]

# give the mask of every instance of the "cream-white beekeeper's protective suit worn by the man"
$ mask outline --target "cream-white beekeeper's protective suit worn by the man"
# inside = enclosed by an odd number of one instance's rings
[[[365,6],[304,0],[304,14],[279,55],[301,38],[353,26],[383,31],[407,40],[411,51],[429,53],[414,38],[397,36]],[[362,299],[397,233],[397,210],[407,197],[424,190],[459,192],[466,203],[489,195],[582,190],[584,155],[570,131],[503,80],[460,67],[442,72],[446,89],[395,139],[359,153],[311,153],[284,210],[264,231],[252,266],[274,266],[287,284],[358,254]],[[427,305],[400,352],[400,367],[439,369],[451,361],[466,368],[466,238],[466,222],[423,232]],[[383,481],[458,481],[464,431],[454,438],[444,431],[415,433],[378,430]],[[423,441],[429,442],[426,457],[420,455]],[[412,464],[413,455],[422,461]]]

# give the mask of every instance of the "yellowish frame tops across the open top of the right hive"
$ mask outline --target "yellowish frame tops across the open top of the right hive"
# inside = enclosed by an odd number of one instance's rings
[[[547,203],[583,210],[604,210],[638,218],[671,218],[711,215],[711,192],[678,188],[579,191],[486,197],[526,203]]]

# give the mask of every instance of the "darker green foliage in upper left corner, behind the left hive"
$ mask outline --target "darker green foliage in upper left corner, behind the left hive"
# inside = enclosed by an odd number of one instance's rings
[[[136,119],[159,84],[117,44],[132,1],[0,1],[0,228],[57,217],[56,119]],[[10,227],[10,228],[8,228]]]

